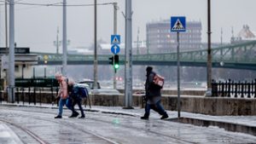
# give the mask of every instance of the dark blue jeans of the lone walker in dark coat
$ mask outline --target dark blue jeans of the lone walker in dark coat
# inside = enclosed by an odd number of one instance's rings
[[[155,112],[158,112],[160,115],[166,114],[166,111],[164,107],[160,103],[161,101],[157,101],[155,104],[148,104],[146,103],[145,106],[145,116],[149,116],[150,114],[150,109],[152,108]]]

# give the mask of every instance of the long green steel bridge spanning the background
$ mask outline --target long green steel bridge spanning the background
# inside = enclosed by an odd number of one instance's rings
[[[234,43],[212,48],[212,67],[256,70],[256,41]],[[38,55],[38,65],[61,65],[62,55],[34,53]],[[111,55],[98,55],[99,65],[109,65]],[[176,66],[177,53],[133,55],[133,65]],[[47,62],[45,62],[47,60]],[[93,65],[94,55],[68,55],[68,65]],[[181,66],[207,66],[207,49],[180,52]],[[119,55],[124,64],[125,55]]]

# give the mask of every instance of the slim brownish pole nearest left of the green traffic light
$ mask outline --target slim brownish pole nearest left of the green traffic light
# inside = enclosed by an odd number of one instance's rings
[[[93,89],[97,89],[97,71],[98,71],[98,60],[97,60],[97,0],[94,0],[94,86]]]

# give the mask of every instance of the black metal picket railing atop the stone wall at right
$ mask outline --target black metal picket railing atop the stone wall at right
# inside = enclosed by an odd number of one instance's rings
[[[256,98],[256,79],[252,82],[225,82],[212,80],[212,96],[233,98]]]

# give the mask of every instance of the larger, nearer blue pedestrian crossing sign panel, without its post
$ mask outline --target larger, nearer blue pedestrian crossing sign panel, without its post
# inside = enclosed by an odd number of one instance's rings
[[[172,16],[171,17],[171,32],[186,32],[186,17]]]

